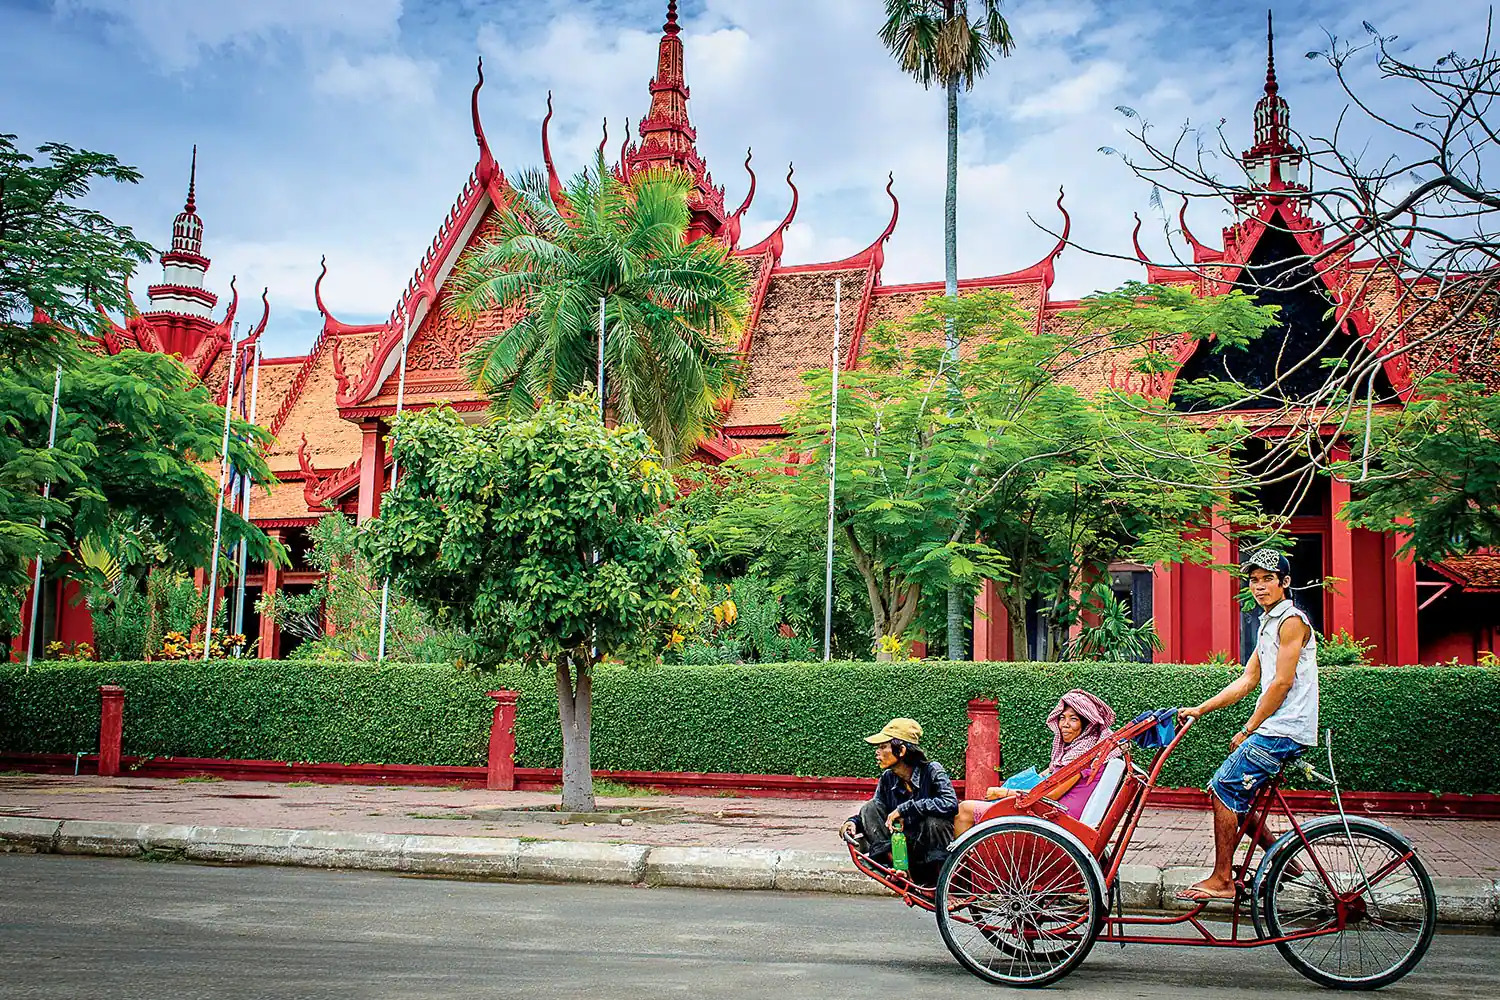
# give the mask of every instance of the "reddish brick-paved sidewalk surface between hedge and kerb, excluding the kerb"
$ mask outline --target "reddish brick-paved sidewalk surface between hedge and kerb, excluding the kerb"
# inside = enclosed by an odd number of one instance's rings
[[[543,823],[465,819],[474,810],[555,804],[546,792],[0,775],[0,816],[69,820],[339,831],[438,837],[843,852],[838,825],[858,802],[768,798],[630,796],[602,805],[669,807],[668,822]],[[1197,867],[1209,856],[1209,813],[1148,810],[1126,862]],[[1500,822],[1384,817],[1408,837],[1434,876],[1500,880]]]

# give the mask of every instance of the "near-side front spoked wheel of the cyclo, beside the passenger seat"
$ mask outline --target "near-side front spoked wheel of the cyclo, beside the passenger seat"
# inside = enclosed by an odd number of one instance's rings
[[[999,823],[950,855],[938,930],[980,979],[1046,987],[1094,948],[1102,892],[1088,855],[1054,828]]]

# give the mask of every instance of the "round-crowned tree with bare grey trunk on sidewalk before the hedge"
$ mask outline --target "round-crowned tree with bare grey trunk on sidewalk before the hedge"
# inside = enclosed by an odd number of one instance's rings
[[[478,426],[406,415],[392,448],[402,478],[362,540],[374,574],[459,627],[480,666],[552,669],[562,808],[591,810],[594,667],[656,663],[702,604],[693,552],[657,517],[674,490],[660,456],[582,397]]]

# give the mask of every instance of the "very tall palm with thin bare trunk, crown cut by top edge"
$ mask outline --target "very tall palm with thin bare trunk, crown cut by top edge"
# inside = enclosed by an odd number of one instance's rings
[[[976,9],[970,19],[969,9]],[[996,54],[1016,48],[1011,28],[1000,16],[1000,0],[885,0],[880,40],[902,69],[922,87],[942,84],[948,91],[948,192],[944,199],[944,291],[958,295],[958,87],[988,70]],[[952,324],[946,336],[948,364],[958,363]],[[957,585],[948,588],[948,658],[963,660],[966,609]]]

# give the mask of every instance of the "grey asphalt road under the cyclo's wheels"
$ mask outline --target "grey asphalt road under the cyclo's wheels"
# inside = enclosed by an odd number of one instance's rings
[[[1384,997],[1496,997],[1500,937],[1440,934]],[[0,997],[1005,996],[891,900],[0,856]],[[1048,991],[1329,996],[1274,949],[1098,946]],[[1018,994],[1017,994],[1018,996]]]

